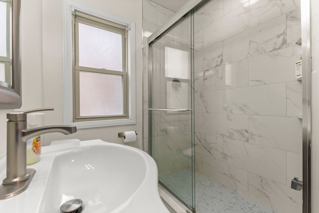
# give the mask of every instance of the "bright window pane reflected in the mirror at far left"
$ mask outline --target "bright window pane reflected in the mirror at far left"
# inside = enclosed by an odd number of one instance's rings
[[[6,3],[0,1],[0,56],[6,56]]]

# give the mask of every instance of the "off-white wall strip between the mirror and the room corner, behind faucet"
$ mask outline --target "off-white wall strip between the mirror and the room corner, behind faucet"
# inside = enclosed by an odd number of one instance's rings
[[[21,1],[22,107],[43,107],[42,0]],[[0,110],[0,154],[6,151],[6,113]],[[17,111],[17,110],[14,110]]]

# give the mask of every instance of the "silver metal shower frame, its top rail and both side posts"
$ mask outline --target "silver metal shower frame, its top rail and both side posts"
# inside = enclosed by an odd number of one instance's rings
[[[188,0],[168,21],[160,26],[149,38],[148,44],[156,40],[163,32],[170,28],[186,13],[194,7],[205,4],[211,0]],[[301,32],[302,32],[302,56],[303,56],[303,121],[302,121],[302,147],[303,147],[303,213],[311,213],[311,0],[301,0]],[[149,48],[149,56],[151,51]],[[149,57],[149,69],[151,68]],[[149,72],[150,73],[150,72]],[[149,74],[149,80],[151,79]],[[150,90],[149,85],[149,91]],[[149,94],[149,101],[152,94]],[[150,112],[149,112],[150,115]],[[150,116],[149,116],[150,119]],[[150,120],[149,120],[149,124]],[[151,134],[149,134],[150,136]],[[151,148],[151,144],[149,144]],[[151,149],[150,149],[151,150]]]

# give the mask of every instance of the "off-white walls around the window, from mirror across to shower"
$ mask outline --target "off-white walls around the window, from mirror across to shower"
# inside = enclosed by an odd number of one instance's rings
[[[102,139],[123,143],[118,132],[136,130],[137,142],[129,145],[142,148],[142,0],[78,0],[100,10],[136,21],[136,125],[81,129],[64,136],[52,133],[45,144],[64,138]],[[22,107],[27,110],[53,107],[45,114],[45,125],[61,125],[62,121],[62,0],[21,1],[22,37]],[[71,97],[70,97],[71,98]],[[6,149],[6,113],[0,110],[0,154]]]

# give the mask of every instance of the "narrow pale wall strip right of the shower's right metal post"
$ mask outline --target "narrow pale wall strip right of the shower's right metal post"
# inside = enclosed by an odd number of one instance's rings
[[[311,0],[312,21],[312,213],[319,212],[319,1]]]

